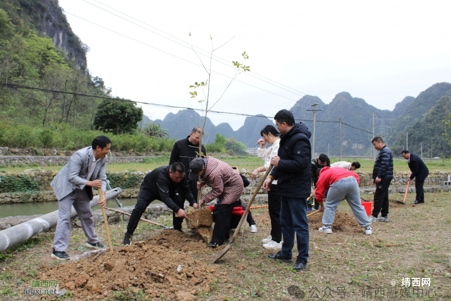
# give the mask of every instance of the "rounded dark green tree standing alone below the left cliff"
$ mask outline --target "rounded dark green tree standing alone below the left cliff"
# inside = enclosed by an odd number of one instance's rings
[[[135,102],[105,99],[94,116],[94,127],[116,134],[130,133],[138,127],[142,115],[142,108]]]

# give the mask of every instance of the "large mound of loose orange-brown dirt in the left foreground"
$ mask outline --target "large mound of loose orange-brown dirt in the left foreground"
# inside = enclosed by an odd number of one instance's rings
[[[196,294],[209,291],[209,284],[225,274],[187,255],[205,248],[198,234],[165,230],[147,242],[115,248],[113,253],[52,266],[39,279],[57,280],[60,289],[71,290],[80,300],[125,290],[143,290],[152,298],[195,300]]]

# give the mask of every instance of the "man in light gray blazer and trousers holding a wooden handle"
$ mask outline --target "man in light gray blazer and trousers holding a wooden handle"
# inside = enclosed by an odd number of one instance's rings
[[[92,146],[79,149],[72,155],[50,184],[58,199],[59,208],[52,252],[52,257],[58,260],[70,259],[66,249],[71,230],[72,206],[77,211],[85,236],[88,238],[86,246],[103,248],[94,231],[90,201],[93,198],[92,187],[101,188],[99,204],[105,208],[107,186],[105,169],[110,146],[111,140],[107,136],[95,137]]]

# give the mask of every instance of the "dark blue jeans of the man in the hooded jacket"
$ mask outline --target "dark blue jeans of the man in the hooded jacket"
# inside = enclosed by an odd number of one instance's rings
[[[309,224],[307,222],[307,199],[281,196],[280,224],[284,243],[281,255],[293,256],[294,235],[298,242],[298,259],[307,263],[309,257]]]

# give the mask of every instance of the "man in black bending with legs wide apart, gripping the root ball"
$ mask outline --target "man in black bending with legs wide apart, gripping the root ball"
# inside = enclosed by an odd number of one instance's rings
[[[172,210],[174,230],[181,232],[183,218],[186,218],[186,213],[183,210],[184,200],[178,195],[177,189],[180,189],[186,196],[189,205],[197,209],[197,203],[189,190],[188,178],[186,177],[185,167],[182,163],[175,162],[172,165],[161,166],[144,177],[138,194],[138,200],[128,221],[127,232],[122,242],[123,245],[129,245],[131,243],[131,238],[138,226],[139,219],[146,211],[147,206],[154,200],[160,200]],[[175,213],[177,213],[178,217],[175,216]]]

